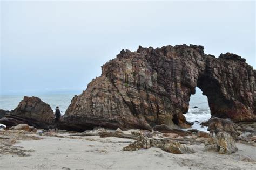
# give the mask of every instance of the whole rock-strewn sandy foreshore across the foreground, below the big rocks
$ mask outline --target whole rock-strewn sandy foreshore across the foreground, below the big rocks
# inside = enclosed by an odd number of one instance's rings
[[[256,165],[255,131],[254,136],[247,136],[253,144],[237,137],[237,149],[231,155],[207,148],[212,134],[190,130],[181,136],[168,132],[95,128],[78,133],[20,124],[0,131],[0,168],[253,169]]]

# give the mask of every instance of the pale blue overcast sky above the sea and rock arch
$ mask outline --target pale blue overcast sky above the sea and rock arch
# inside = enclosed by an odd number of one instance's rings
[[[255,69],[255,2],[1,1],[1,94],[82,91],[122,49],[184,43]]]

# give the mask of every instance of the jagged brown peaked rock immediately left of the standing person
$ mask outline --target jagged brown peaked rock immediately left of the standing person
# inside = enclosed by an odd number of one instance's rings
[[[6,126],[28,124],[35,128],[49,129],[53,125],[53,119],[53,111],[49,104],[38,97],[24,96],[18,107],[1,118],[0,123]]]

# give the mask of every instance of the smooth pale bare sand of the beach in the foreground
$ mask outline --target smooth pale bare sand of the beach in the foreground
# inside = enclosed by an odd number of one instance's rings
[[[0,169],[255,169],[255,147],[237,143],[238,152],[221,155],[188,145],[196,153],[172,154],[160,148],[122,151],[134,140],[116,137],[59,137],[26,134],[39,140],[18,140],[26,156],[0,154]],[[249,159],[248,159],[249,158]],[[225,161],[224,161],[225,160]]]

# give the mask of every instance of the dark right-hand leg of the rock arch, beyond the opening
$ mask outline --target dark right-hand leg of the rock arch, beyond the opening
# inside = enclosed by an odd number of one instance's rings
[[[234,122],[255,120],[255,70],[240,56],[226,53],[206,58],[197,86],[208,98],[212,117]]]

